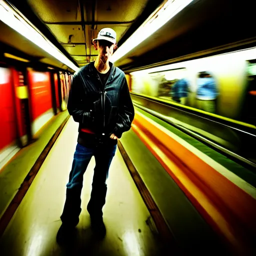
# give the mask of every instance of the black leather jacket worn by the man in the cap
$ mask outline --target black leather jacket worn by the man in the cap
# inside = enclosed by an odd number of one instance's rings
[[[120,138],[130,129],[134,107],[124,72],[112,63],[109,65],[111,69],[104,87],[94,61],[74,74],[67,110],[74,121],[79,122],[79,132],[81,128],[88,128],[96,134],[114,133]]]

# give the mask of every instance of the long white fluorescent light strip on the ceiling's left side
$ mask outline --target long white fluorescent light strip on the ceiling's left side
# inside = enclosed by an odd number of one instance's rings
[[[0,20],[74,71],[79,69],[3,0],[0,0]]]

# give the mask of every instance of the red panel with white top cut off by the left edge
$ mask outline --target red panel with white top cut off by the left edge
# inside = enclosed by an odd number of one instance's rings
[[[0,149],[16,139],[15,105],[11,71],[0,67]]]

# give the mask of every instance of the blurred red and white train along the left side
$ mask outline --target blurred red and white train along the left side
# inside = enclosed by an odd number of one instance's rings
[[[65,70],[36,70],[16,63],[0,62],[0,163],[30,143],[53,115],[66,109],[72,79]]]

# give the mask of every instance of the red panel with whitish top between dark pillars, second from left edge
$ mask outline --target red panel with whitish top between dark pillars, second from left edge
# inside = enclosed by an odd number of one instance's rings
[[[28,71],[32,120],[52,108],[49,72]]]

